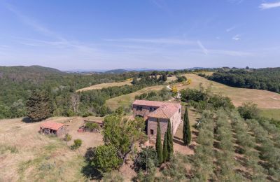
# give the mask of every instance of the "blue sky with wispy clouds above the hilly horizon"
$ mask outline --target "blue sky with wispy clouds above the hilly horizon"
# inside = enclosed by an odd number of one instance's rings
[[[0,65],[280,66],[279,0],[0,0]]]

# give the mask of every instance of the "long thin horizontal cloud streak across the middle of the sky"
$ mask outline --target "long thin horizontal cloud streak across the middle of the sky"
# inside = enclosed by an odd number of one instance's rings
[[[121,39],[105,39],[105,41],[114,42],[134,42],[134,43],[164,43],[178,45],[194,45],[195,41],[179,38],[121,38]]]

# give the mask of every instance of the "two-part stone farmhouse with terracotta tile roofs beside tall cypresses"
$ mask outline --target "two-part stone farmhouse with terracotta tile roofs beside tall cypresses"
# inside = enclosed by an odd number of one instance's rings
[[[155,142],[157,136],[158,120],[160,121],[162,139],[167,132],[168,120],[170,120],[173,135],[181,124],[181,104],[135,100],[132,109],[134,117],[141,116],[146,120],[148,138],[152,142]]]

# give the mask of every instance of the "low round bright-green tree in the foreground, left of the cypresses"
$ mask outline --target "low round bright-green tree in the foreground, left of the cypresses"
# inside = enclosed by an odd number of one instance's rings
[[[117,150],[114,146],[97,146],[94,150],[92,166],[102,174],[117,169],[122,162],[123,160],[118,158]]]

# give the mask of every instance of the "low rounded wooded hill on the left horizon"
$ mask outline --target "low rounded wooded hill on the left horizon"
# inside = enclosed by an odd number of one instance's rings
[[[22,81],[43,79],[45,76],[66,74],[58,69],[43,66],[0,66],[0,79]]]

